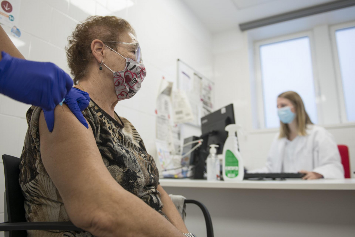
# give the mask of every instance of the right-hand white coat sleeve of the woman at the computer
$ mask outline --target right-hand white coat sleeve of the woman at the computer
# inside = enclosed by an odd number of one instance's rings
[[[344,168],[332,134],[324,128],[316,132],[314,158],[318,161],[318,166],[313,169],[313,172],[322,174],[324,178],[343,179]]]

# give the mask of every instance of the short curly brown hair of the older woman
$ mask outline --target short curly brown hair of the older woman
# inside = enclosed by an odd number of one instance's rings
[[[94,39],[103,42],[120,41],[120,34],[125,32],[136,35],[126,20],[116,16],[91,16],[75,27],[68,37],[69,45],[65,47],[67,62],[75,84],[88,72],[92,57],[91,42]],[[106,44],[117,49],[114,43]]]

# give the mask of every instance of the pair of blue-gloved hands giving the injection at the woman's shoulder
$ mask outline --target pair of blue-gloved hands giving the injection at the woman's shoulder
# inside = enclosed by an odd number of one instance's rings
[[[0,93],[40,106],[50,132],[54,126],[54,108],[65,98],[73,114],[88,128],[81,111],[90,102],[89,94],[73,88],[73,81],[65,71],[53,63],[14,58],[5,52],[1,56]]]

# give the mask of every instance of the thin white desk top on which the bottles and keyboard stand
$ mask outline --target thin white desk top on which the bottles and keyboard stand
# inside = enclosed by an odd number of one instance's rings
[[[244,180],[239,182],[206,181],[197,179],[159,179],[162,187],[184,188],[240,188],[240,189],[312,189],[312,190],[355,190],[355,179],[317,180]]]

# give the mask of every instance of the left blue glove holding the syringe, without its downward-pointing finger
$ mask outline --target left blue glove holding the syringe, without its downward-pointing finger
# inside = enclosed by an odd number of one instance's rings
[[[73,86],[65,71],[53,63],[13,58],[1,52],[0,93],[17,101],[52,110]]]

